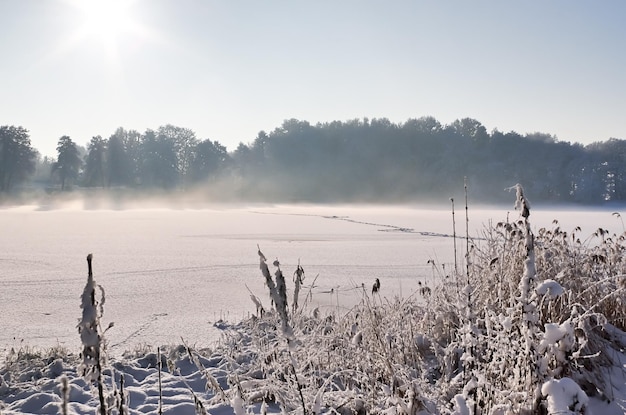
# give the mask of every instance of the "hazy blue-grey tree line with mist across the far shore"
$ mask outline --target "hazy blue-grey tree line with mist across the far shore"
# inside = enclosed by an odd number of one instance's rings
[[[543,133],[488,132],[471,118],[290,119],[230,152],[187,128],[118,128],[86,147],[63,136],[56,159],[41,158],[24,127],[0,127],[5,193],[35,185],[205,189],[213,200],[384,203],[446,200],[468,180],[472,197],[485,202],[510,199],[503,190],[521,183],[533,200],[598,204],[626,200],[625,174],[626,140],[583,146]]]

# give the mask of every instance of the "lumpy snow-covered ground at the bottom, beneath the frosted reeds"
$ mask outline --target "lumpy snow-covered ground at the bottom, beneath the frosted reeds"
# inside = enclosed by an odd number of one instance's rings
[[[323,325],[323,323],[322,323]],[[130,414],[169,414],[192,415],[209,413],[213,415],[285,413],[282,407],[294,413],[302,413],[300,400],[296,394],[294,379],[282,379],[279,387],[283,396],[276,397],[276,385],[265,378],[269,372],[267,356],[275,356],[276,349],[263,346],[268,333],[271,336],[275,327],[251,319],[237,325],[216,323],[225,342],[212,350],[194,349],[186,345],[164,347],[158,352],[154,348],[144,348],[129,352],[109,361],[105,370],[105,385],[108,389],[107,405],[119,408],[120,396]],[[332,334],[331,334],[332,335]],[[319,334],[314,334],[315,337]],[[621,352],[608,351],[614,355],[620,366],[613,369],[613,392],[611,401],[592,397],[586,406],[586,415],[620,415],[626,413],[626,335],[621,333]],[[297,371],[305,372],[307,358],[314,360],[318,350],[310,348],[316,340],[313,336],[303,336],[292,348],[291,361]],[[270,342],[271,344],[271,342]],[[280,344],[280,342],[278,343]],[[358,349],[354,340],[347,348]],[[283,352],[286,347],[282,348]],[[299,352],[299,353],[298,353]],[[161,369],[158,354],[161,354]],[[304,356],[304,357],[303,357]],[[98,393],[94,384],[88,384],[77,376],[79,360],[76,354],[67,355],[64,351],[43,354],[18,351],[10,355],[11,362],[0,370],[0,413],[11,414],[58,414],[63,413],[63,396],[67,396],[68,414],[94,414],[99,406]],[[287,373],[289,373],[287,371]],[[302,376],[302,373],[300,374]],[[124,378],[123,393],[120,380]],[[350,375],[348,375],[349,377]],[[339,377],[339,376],[338,376]],[[67,392],[63,392],[63,378],[67,380]],[[329,377],[325,378],[331,380]],[[568,379],[566,379],[568,380]],[[332,386],[332,385],[331,385]],[[332,390],[321,384],[318,394],[307,396],[305,405],[310,411],[318,408],[318,413],[359,414],[364,405],[364,397],[356,391]],[[371,402],[371,413],[381,414],[469,414],[451,406],[433,408],[432,405],[415,408],[411,411],[402,401],[392,396],[389,388],[380,385],[379,392]],[[567,407],[572,393],[580,390],[575,384],[565,381],[549,384],[551,405],[554,408]],[[198,405],[201,404],[201,407]],[[206,412],[202,412],[202,410]],[[121,413],[113,409],[113,413]],[[308,412],[310,413],[310,412]],[[553,412],[574,413],[574,412]]]

